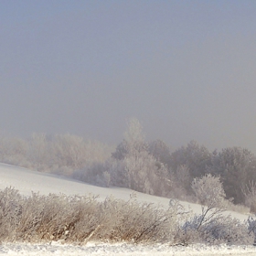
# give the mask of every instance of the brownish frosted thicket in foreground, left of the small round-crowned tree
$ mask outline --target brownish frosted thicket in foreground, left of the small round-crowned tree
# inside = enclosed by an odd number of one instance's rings
[[[41,242],[88,240],[170,241],[176,212],[107,197],[65,195],[23,197],[13,188],[0,192],[0,239]]]

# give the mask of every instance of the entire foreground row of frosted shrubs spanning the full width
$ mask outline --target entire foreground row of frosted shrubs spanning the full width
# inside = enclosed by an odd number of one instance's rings
[[[86,243],[95,241],[194,242],[252,244],[255,220],[249,224],[218,216],[202,222],[192,219],[177,200],[170,208],[139,203],[134,195],[124,201],[107,197],[80,197],[32,193],[21,196],[14,188],[0,191],[0,240]],[[198,229],[199,223],[200,225]],[[249,226],[249,229],[248,229]]]

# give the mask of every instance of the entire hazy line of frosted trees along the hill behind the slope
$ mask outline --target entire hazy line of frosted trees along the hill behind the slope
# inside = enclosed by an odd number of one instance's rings
[[[193,181],[219,177],[226,199],[256,212],[256,156],[248,149],[209,151],[195,141],[174,152],[161,140],[146,142],[132,118],[116,147],[71,134],[35,133],[0,138],[0,161],[37,171],[71,176],[103,187],[128,187],[147,194],[195,199]]]

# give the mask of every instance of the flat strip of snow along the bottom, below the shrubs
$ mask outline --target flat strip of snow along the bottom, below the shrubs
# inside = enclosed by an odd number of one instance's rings
[[[52,244],[4,244],[0,246],[0,255],[112,255],[112,256],[213,256],[213,255],[255,255],[256,248],[253,246],[206,246],[202,244],[188,247],[168,245],[132,245],[132,244],[87,244],[86,246],[61,245],[57,242]]]

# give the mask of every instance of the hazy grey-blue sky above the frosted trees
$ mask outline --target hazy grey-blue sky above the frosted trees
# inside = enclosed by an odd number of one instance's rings
[[[1,0],[0,132],[256,153],[255,0]]]

